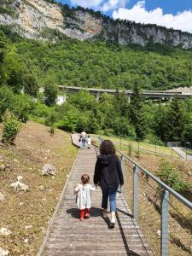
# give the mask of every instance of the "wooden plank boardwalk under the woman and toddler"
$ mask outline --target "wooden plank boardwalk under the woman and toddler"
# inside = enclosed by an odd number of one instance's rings
[[[73,136],[73,143],[79,145],[77,136]],[[136,221],[131,218],[129,207],[120,193],[117,195],[117,222],[113,230],[108,229],[109,219],[102,218],[100,188],[91,196],[91,217],[79,221],[73,189],[80,182],[83,173],[90,175],[92,183],[95,163],[95,148],[79,149],[38,255],[153,255]]]

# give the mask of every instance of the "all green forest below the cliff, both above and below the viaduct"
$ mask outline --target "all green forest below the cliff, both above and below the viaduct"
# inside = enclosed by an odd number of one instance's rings
[[[20,38],[0,32],[0,115],[9,109],[21,121],[35,119],[67,131],[104,133],[148,140],[192,142],[192,100],[174,98],[166,105],[144,102],[141,89],[166,89],[189,85],[192,51],[144,49],[104,42],[66,38],[60,44]],[[58,84],[116,89],[100,101],[87,91],[55,105]],[[39,87],[44,93],[39,93]],[[119,88],[134,91],[131,102]],[[24,92],[21,93],[21,91]]]

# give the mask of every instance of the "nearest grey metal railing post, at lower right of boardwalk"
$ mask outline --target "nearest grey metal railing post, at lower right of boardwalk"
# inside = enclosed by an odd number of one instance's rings
[[[164,190],[161,200],[160,255],[168,255],[169,247],[169,192]]]

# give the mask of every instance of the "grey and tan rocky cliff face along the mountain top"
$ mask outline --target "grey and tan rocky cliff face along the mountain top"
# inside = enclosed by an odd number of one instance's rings
[[[155,25],[110,20],[84,9],[65,9],[44,0],[3,0],[0,24],[12,26],[26,38],[56,40],[55,31],[80,40],[102,39],[118,44],[167,44],[192,48],[192,34]],[[54,37],[53,37],[54,34]]]

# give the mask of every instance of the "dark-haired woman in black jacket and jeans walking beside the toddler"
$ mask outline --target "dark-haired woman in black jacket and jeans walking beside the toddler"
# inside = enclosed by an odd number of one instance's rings
[[[115,147],[111,141],[105,140],[100,145],[100,155],[96,160],[94,183],[102,189],[103,218],[108,218],[108,197],[110,203],[111,222],[113,229],[116,212],[116,193],[119,185],[124,184],[124,177],[119,158],[115,154]]]

